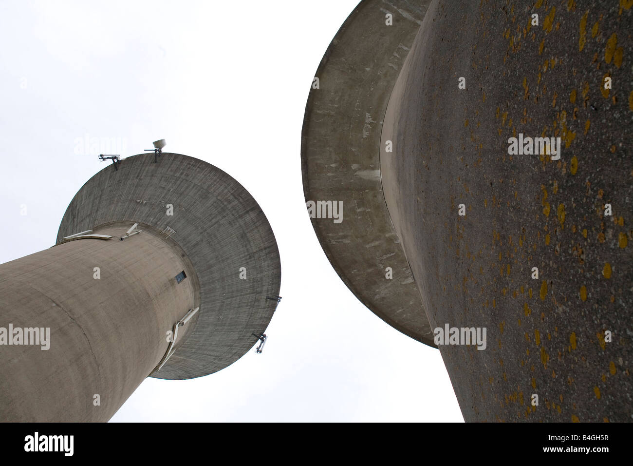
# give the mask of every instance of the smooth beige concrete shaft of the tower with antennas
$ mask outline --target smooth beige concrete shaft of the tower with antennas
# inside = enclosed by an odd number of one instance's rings
[[[200,301],[191,266],[157,233],[75,240],[0,265],[0,327],[50,328],[49,349],[0,346],[1,422],[107,421],[154,370],[166,330]]]

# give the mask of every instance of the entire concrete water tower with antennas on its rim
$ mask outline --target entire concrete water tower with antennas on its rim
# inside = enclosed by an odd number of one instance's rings
[[[270,225],[230,176],[172,153],[110,165],[54,247],[0,265],[0,420],[106,421],[148,376],[216,372],[279,285]]]

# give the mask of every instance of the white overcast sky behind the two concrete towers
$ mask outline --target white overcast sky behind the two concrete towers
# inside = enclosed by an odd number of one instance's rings
[[[54,244],[70,200],[110,163],[92,138],[124,157],[165,138],[220,167],[279,245],[283,299],[263,353],[146,379],[113,422],[463,422],[439,351],[354,297],[306,212],[306,99],[356,3],[0,1],[0,263]]]

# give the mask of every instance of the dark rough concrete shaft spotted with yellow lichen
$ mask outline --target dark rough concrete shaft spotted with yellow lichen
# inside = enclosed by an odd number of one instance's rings
[[[436,0],[394,89],[382,181],[430,324],[487,328],[439,347],[467,421],[632,420],[632,5]]]

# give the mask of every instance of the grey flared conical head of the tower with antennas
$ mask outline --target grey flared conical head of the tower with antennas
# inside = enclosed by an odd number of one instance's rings
[[[153,160],[134,155],[92,176],[68,205],[57,242],[119,221],[175,230],[170,238],[196,271],[201,307],[187,339],[152,377],[202,377],[237,361],[258,341],[253,333],[265,332],[278,304],[267,297],[279,295],[279,249],[260,205],[229,174],[177,153]]]

